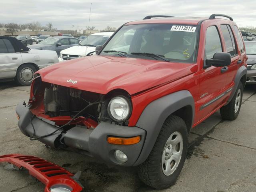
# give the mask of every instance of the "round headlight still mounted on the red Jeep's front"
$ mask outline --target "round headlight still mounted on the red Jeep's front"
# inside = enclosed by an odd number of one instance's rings
[[[108,114],[110,118],[117,122],[127,120],[130,113],[130,102],[123,96],[114,97],[108,103]]]

